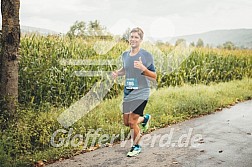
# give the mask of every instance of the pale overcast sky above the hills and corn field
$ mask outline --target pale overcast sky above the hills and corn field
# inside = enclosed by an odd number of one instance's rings
[[[141,27],[170,37],[217,29],[252,28],[251,0],[20,0],[20,23],[66,33],[97,19],[113,34]]]

